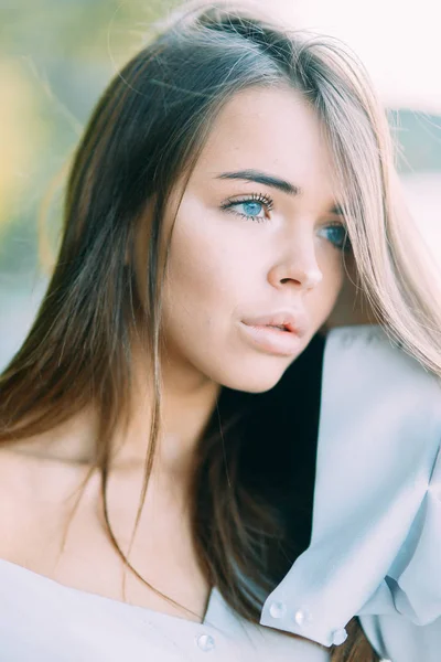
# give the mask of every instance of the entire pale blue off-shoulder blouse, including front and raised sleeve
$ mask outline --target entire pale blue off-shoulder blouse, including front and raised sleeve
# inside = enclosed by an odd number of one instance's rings
[[[354,616],[384,659],[439,662],[440,438],[439,380],[379,327],[332,330],[311,544],[268,596],[260,626],[216,588],[196,623],[0,560],[1,662],[325,662],[329,651],[308,639],[342,643]]]

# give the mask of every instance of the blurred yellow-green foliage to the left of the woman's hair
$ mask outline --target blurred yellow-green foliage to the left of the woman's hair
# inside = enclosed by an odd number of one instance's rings
[[[0,0],[0,287],[39,270],[39,214],[93,106],[154,21],[180,3]],[[63,181],[47,213],[54,246]]]

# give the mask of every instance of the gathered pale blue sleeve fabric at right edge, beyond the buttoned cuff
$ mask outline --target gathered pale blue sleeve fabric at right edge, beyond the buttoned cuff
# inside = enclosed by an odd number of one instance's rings
[[[373,645],[394,662],[441,659],[440,451],[409,533],[358,615]]]

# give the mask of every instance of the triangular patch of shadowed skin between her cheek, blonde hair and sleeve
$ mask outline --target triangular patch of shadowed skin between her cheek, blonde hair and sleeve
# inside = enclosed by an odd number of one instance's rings
[[[325,332],[334,327],[351,327],[356,324],[378,324],[372,306],[359,285],[355,259],[346,258],[343,286],[335,306],[322,327]]]

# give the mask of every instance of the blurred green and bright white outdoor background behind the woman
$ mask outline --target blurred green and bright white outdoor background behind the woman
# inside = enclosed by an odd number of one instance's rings
[[[441,265],[438,0],[262,0],[344,40],[383,98],[408,204]],[[0,370],[20,346],[56,252],[69,159],[116,71],[173,0],[0,0]]]

